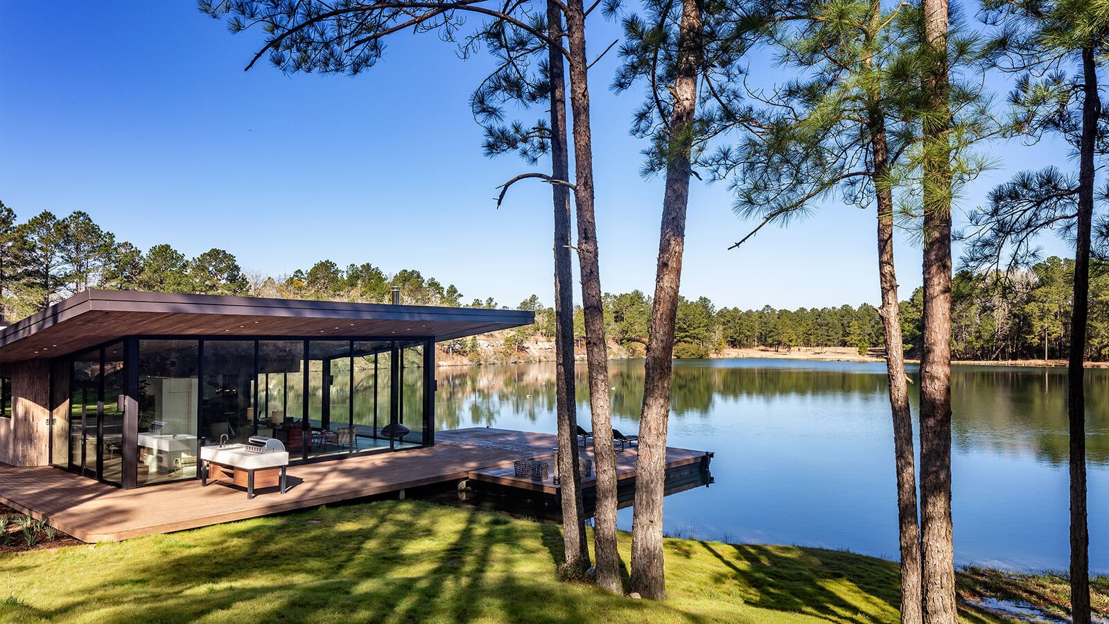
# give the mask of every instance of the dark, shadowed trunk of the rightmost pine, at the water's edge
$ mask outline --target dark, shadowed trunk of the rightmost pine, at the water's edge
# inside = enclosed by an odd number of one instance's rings
[[[1086,521],[1086,325],[1090,296],[1093,220],[1093,149],[1101,100],[1092,48],[1082,49],[1082,139],[1078,154],[1078,229],[1075,235],[1075,304],[1070,313],[1067,420],[1070,423],[1070,606],[1075,624],[1090,622],[1090,535]]]

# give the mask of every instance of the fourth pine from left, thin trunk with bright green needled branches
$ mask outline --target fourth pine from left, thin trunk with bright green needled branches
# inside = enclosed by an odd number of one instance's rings
[[[902,322],[894,270],[895,199],[908,194],[907,152],[918,143],[915,104],[915,21],[908,6],[883,10],[876,0],[764,2],[752,9],[760,36],[772,42],[797,78],[763,102],[745,141],[712,158],[719,179],[736,190],[736,211],[761,222],[733,246],[764,225],[788,223],[830,194],[877,214],[878,282],[891,413],[901,545],[902,621],[922,618],[920,544],[917,524],[915,459]],[[908,74],[908,76],[907,76]],[[967,93],[973,100],[974,93]],[[862,310],[862,309],[861,309]],[[873,310],[873,309],[872,309]],[[851,319],[835,325],[843,340],[865,353],[877,336],[869,324]],[[831,326],[831,325],[830,325]],[[831,331],[831,330],[830,330]],[[785,328],[777,340],[802,340]]]

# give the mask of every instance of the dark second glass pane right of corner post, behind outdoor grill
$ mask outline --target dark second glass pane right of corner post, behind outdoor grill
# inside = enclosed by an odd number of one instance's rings
[[[206,340],[202,352],[204,444],[246,442],[254,435],[254,341]]]

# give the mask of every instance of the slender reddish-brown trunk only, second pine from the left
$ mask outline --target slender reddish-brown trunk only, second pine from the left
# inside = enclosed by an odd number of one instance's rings
[[[610,592],[622,593],[620,554],[617,552],[617,456],[609,412],[608,349],[593,213],[593,148],[589,125],[589,63],[586,59],[586,10],[582,0],[570,0],[567,4],[566,27],[570,43],[578,263],[581,266],[581,306],[586,320],[586,361],[593,425],[593,466],[597,471],[597,510],[593,514],[597,584]]]

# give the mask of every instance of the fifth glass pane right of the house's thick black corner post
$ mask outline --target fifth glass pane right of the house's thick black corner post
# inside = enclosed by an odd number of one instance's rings
[[[388,449],[381,429],[389,424],[390,355],[389,341],[354,343],[354,427],[355,450]]]

